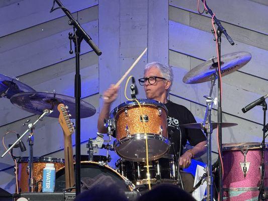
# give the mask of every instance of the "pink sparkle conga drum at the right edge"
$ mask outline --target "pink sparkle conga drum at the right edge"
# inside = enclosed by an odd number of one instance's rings
[[[261,174],[261,145],[257,142],[223,144],[223,199],[225,201],[257,200]],[[264,187],[268,186],[268,159],[265,148]]]

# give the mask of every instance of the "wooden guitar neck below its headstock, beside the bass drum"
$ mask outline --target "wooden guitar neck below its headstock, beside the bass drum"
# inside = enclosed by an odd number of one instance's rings
[[[64,135],[64,164],[66,188],[73,187],[75,179],[71,135]]]

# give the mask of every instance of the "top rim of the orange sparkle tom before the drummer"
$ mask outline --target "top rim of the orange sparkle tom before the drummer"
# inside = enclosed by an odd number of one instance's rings
[[[154,99],[137,99],[140,102],[141,106],[156,106],[156,107],[161,107],[165,110],[166,114],[168,114],[168,110],[165,107],[164,104],[158,102],[157,100]],[[138,103],[135,100],[129,100],[127,102],[124,102],[120,104],[118,107],[114,108],[111,113],[110,113],[110,118],[115,118],[116,114],[121,111],[123,108],[126,107],[132,107],[132,106],[138,106]]]

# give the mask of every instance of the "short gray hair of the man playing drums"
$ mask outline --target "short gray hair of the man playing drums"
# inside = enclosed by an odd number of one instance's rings
[[[172,68],[169,66],[169,65],[164,65],[162,63],[159,63],[159,62],[151,62],[151,63],[147,63],[145,65],[145,68],[144,68],[144,73],[150,69],[151,67],[155,66],[156,68],[158,68],[160,70],[160,72],[162,73],[163,77],[167,80],[170,81],[170,87],[168,88],[167,90],[167,93],[169,93],[169,90],[172,86],[172,83],[173,83],[173,72],[172,72]]]

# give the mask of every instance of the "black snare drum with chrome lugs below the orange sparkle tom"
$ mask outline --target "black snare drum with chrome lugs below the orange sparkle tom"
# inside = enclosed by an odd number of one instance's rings
[[[146,162],[134,162],[119,159],[116,169],[136,185],[148,184]],[[176,170],[172,155],[149,161],[150,183],[176,183]]]

